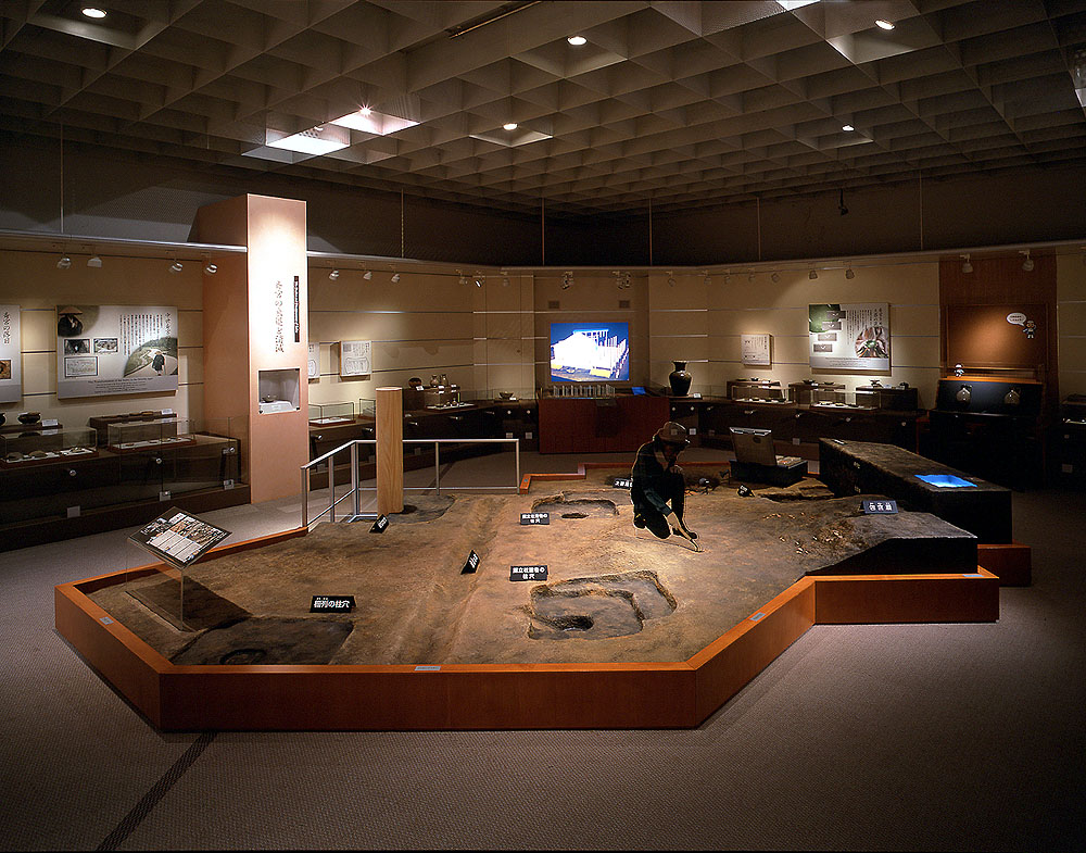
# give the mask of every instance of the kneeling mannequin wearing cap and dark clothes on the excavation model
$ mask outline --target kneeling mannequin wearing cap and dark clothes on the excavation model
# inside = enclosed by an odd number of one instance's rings
[[[660,539],[667,539],[673,532],[694,545],[695,551],[700,551],[697,534],[683,520],[686,485],[682,468],[675,464],[679,453],[689,446],[686,427],[682,424],[669,421],[660,427],[652,440],[637,450],[637,459],[630,473],[633,480],[630,497],[633,499],[635,527],[647,527]]]

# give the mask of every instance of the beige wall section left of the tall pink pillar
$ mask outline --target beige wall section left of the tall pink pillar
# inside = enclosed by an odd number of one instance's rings
[[[182,418],[203,417],[202,264],[186,263],[171,273],[169,261],[102,256],[87,266],[89,253],[71,253],[72,266],[58,269],[61,252],[0,251],[0,302],[21,312],[23,400],[0,403],[9,423],[24,411],[39,411],[65,427],[86,426],[91,416],[148,409],[173,409]],[[60,304],[176,305],[178,376],[176,393],[56,398],[56,306]]]

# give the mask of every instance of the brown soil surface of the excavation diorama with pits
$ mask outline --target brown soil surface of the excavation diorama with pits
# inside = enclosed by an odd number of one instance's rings
[[[702,553],[635,528],[629,490],[590,472],[528,494],[413,498],[382,534],[318,524],[198,563],[184,611],[176,573],[91,598],[177,664],[632,663],[689,658],[806,574],[976,570],[975,538],[927,513],[864,515],[877,496],[809,478],[742,497],[727,477],[687,469]],[[512,581],[526,565],[546,581]],[[356,606],[311,614],[317,594]]]

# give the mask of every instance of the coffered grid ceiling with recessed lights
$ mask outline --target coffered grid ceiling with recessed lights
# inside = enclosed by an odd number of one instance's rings
[[[90,1],[0,2],[0,130],[568,214],[1086,162],[1086,0]]]

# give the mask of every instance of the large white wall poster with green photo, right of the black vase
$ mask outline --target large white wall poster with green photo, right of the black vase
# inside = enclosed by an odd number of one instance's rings
[[[889,369],[889,303],[808,306],[811,367]]]

